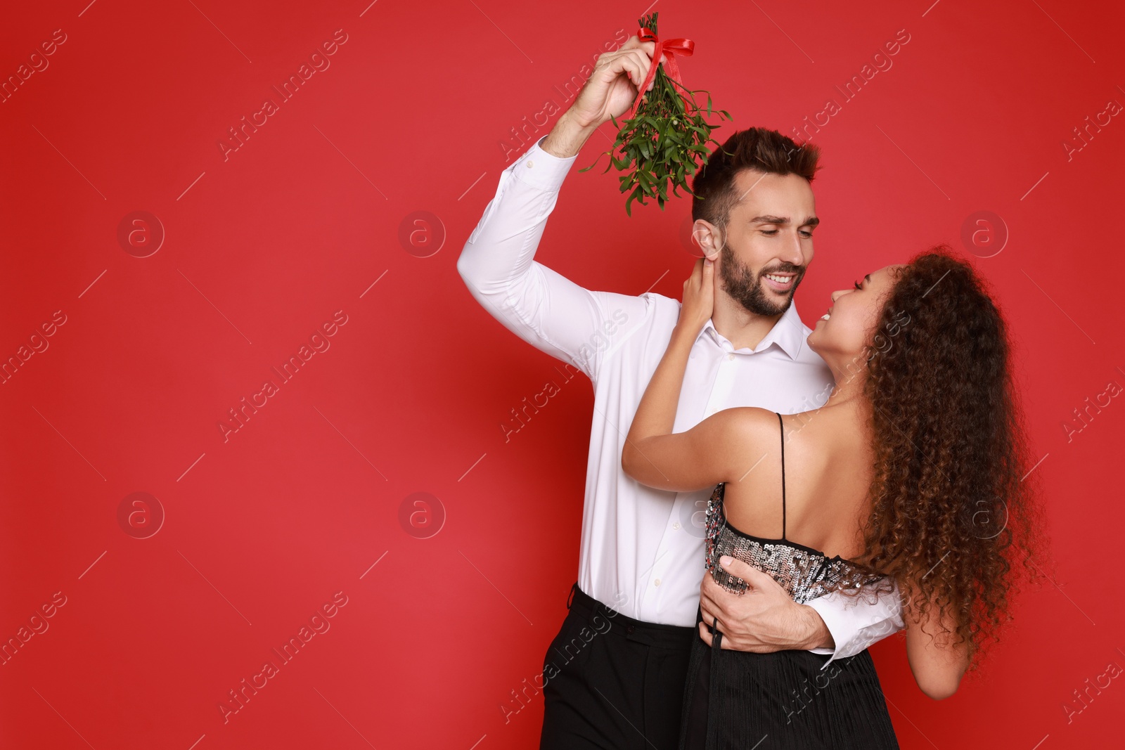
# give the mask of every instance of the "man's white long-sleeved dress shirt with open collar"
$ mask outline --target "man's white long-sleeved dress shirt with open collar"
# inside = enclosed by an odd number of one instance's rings
[[[534,260],[547,217],[577,159],[549,154],[541,142],[501,173],[457,269],[477,301],[505,327],[594,383],[578,587],[636,620],[692,626],[711,489],[654,489],[621,468],[629,425],[672,337],[681,304],[657,293],[584,289]],[[806,343],[809,333],[794,305],[753,350],[734,349],[709,320],[692,347],[673,432],[736,406],[794,414],[822,405],[832,378]],[[777,503],[780,510],[780,497]],[[809,606],[836,642],[835,651],[812,651],[832,658],[858,653],[903,626],[897,596],[868,604],[829,594]]]

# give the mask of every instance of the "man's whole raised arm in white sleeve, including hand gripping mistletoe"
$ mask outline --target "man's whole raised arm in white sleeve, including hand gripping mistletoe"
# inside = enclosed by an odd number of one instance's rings
[[[457,261],[469,291],[497,320],[592,380],[606,351],[602,344],[620,328],[622,313],[639,320],[646,302],[584,289],[536,262],[534,253],[578,151],[600,125],[632,103],[637,85],[630,80],[645,80],[652,49],[651,42],[632,37],[598,56],[570,109],[501,174]]]

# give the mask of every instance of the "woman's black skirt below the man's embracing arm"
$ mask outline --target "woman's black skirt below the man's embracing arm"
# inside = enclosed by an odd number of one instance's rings
[[[696,622],[702,621],[702,613]],[[866,650],[749,653],[696,638],[687,665],[681,750],[898,748]]]

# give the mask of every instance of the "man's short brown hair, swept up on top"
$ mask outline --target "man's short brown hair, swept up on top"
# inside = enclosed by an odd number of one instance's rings
[[[800,174],[809,182],[819,169],[820,148],[799,144],[777,130],[752,127],[734,133],[711,153],[692,179],[692,219],[703,219],[723,232],[731,209],[741,200],[736,175],[746,169],[768,174]]]

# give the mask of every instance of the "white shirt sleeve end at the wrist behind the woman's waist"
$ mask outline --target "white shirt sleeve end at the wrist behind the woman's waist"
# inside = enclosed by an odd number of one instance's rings
[[[836,642],[835,649],[809,649],[813,653],[832,654],[824,667],[834,659],[854,657],[906,627],[898,584],[894,584],[894,590],[883,594],[874,603],[870,597],[853,597],[837,591],[818,596],[807,604],[825,621]]]

